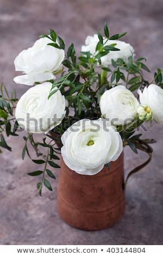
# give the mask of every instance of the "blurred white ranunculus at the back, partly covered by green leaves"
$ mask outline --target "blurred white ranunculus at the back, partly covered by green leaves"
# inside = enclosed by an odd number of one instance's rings
[[[105,42],[106,39],[104,39]],[[98,35],[95,34],[94,36],[87,36],[85,40],[85,45],[82,46],[83,52],[90,52],[91,54],[95,54],[96,52],[96,45],[98,43]],[[101,58],[102,65],[107,67],[111,64],[111,59],[114,59],[115,61],[118,58],[121,58],[124,60],[124,62],[128,62],[128,57],[134,56],[134,48],[128,44],[127,42],[123,42],[120,40],[108,40],[105,44],[111,45],[116,44],[116,48],[120,49],[120,51],[110,51],[107,55],[103,56]]]

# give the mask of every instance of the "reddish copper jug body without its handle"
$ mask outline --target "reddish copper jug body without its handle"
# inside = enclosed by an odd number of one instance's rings
[[[95,175],[77,174],[61,159],[57,208],[69,225],[84,230],[111,227],[123,215],[123,153]]]

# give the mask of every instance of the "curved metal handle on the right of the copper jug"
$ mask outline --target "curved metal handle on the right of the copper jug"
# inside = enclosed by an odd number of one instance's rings
[[[135,144],[136,148],[139,150],[142,150],[144,152],[146,152],[148,154],[148,160],[142,164],[140,164],[140,166],[135,167],[133,170],[131,170],[129,172],[129,174],[127,175],[126,180],[124,181],[123,184],[123,188],[124,190],[126,189],[127,186],[127,181],[130,178],[131,175],[133,175],[134,173],[139,172],[139,170],[141,170],[143,167],[145,167],[149,162],[151,162],[152,159],[152,152],[153,149],[151,148],[151,146],[149,146],[148,143],[146,143],[145,141],[142,141],[141,139],[138,139],[137,141],[133,141],[133,143]]]

